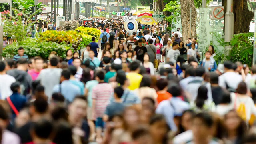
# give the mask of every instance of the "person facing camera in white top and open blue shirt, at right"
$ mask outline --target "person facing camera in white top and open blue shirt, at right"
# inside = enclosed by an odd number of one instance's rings
[[[205,68],[206,72],[214,72],[217,69],[217,64],[211,56],[211,52],[206,52],[205,58],[200,62],[200,65]]]

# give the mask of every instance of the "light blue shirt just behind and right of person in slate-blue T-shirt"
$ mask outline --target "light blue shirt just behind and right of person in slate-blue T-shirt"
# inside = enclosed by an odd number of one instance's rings
[[[124,90],[124,94],[121,97],[123,104],[125,104],[126,106],[131,106],[133,104],[140,104],[140,98],[139,96],[133,92],[132,90],[126,89]],[[110,103],[114,103],[115,99],[114,96],[112,96],[110,98]]]

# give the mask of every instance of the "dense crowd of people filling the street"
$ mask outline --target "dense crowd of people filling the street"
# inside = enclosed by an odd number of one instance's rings
[[[217,65],[214,46],[201,58],[180,28],[94,24],[100,41],[81,54],[43,60],[20,47],[0,61],[2,144],[256,143],[255,66]]]

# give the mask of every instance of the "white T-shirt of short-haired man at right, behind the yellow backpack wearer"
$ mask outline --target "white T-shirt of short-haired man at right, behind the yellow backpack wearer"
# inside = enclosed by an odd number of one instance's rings
[[[219,76],[219,86],[226,89],[226,84],[229,88],[236,89],[238,84],[242,82],[242,76],[237,74],[236,72],[225,72],[221,76]]]

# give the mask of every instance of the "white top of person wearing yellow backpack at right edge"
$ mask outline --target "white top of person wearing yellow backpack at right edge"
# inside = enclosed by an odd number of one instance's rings
[[[237,96],[235,93],[230,94],[231,104],[230,106],[236,107],[236,109],[240,106],[241,103],[245,105],[246,111],[246,121],[249,121],[251,115],[256,115],[256,107],[250,96]]]

